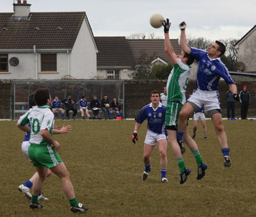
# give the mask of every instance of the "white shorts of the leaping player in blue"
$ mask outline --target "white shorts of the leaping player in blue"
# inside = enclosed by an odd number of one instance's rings
[[[204,111],[213,109],[221,110],[220,94],[218,94],[218,90],[203,91],[197,89],[191,97],[189,97],[188,101],[195,103],[199,108],[204,106]]]

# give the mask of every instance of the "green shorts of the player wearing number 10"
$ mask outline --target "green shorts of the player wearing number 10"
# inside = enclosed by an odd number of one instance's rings
[[[33,166],[38,168],[52,168],[62,162],[59,154],[51,145],[31,144],[28,148],[28,155],[33,162]]]

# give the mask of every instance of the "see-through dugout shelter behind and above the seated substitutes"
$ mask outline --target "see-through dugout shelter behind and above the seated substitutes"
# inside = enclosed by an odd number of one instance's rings
[[[22,113],[28,110],[28,98],[39,88],[47,88],[50,90],[52,100],[58,96],[60,100],[67,98],[68,94],[73,99],[79,101],[82,95],[85,95],[88,102],[97,95],[98,100],[108,95],[110,100],[117,97],[121,107],[124,102],[124,81],[123,80],[46,80],[46,81],[13,81],[11,85],[11,93],[13,95],[13,109],[10,108],[9,115],[13,114],[12,119],[18,119]],[[2,118],[4,118],[2,117]]]

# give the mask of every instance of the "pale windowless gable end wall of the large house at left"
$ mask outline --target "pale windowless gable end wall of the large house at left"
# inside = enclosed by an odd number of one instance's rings
[[[97,76],[97,48],[90,29],[84,21],[71,52],[70,75],[77,79]]]

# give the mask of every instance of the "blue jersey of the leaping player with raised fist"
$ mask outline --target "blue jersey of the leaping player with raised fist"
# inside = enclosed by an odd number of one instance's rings
[[[218,80],[222,77],[226,84],[235,84],[228,69],[220,60],[210,59],[207,52],[201,49],[192,48],[190,55],[198,62],[196,73],[196,86],[200,90],[218,90]]]

